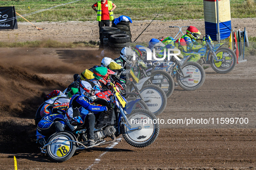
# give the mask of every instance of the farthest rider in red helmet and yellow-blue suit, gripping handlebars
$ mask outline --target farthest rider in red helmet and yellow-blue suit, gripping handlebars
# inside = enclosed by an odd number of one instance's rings
[[[196,27],[188,27],[186,34],[181,37],[187,43],[187,51],[183,51],[182,54],[186,57],[191,56],[188,61],[198,62],[199,64],[203,65],[204,60],[201,58],[205,55],[206,47],[202,46],[196,41],[200,38],[200,35],[201,32],[198,31]],[[204,67],[204,69],[206,69],[206,67]]]

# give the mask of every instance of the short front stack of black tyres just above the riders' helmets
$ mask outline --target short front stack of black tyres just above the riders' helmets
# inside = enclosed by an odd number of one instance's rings
[[[120,54],[123,47],[130,46],[130,36],[126,34],[114,34],[109,38],[109,49],[114,54]]]

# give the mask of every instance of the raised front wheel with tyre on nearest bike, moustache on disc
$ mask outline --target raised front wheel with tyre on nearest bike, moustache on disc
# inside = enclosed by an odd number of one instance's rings
[[[143,148],[156,140],[159,134],[159,124],[155,122],[156,116],[152,112],[136,109],[127,116],[127,119],[131,125],[130,128],[135,128],[129,130],[125,125],[122,126],[123,138],[130,145]]]

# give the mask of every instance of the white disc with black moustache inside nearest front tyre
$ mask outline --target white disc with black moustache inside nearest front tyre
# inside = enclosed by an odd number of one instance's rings
[[[140,127],[139,130],[129,130],[127,127],[127,136],[135,143],[141,144],[147,142],[154,137],[156,130],[155,122],[145,113],[137,113],[129,118],[131,128]],[[156,120],[155,120],[156,121]]]

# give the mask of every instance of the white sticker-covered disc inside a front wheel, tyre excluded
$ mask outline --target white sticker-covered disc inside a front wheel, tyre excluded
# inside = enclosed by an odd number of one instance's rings
[[[202,79],[202,72],[198,67],[193,65],[188,65],[182,68],[182,72],[184,73],[184,77],[190,76],[187,78],[180,77],[180,82],[186,87],[195,87],[197,86]]]

